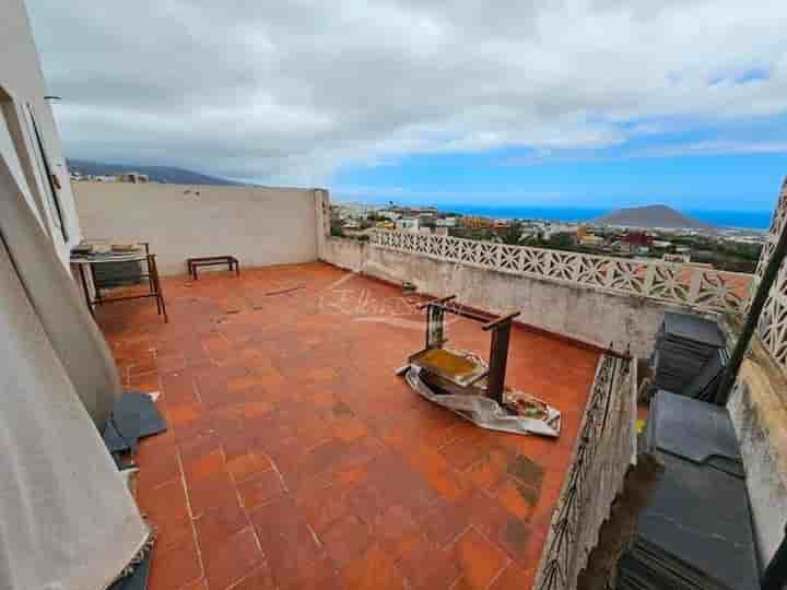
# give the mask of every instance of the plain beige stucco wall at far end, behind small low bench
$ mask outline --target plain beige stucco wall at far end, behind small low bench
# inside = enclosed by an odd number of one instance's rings
[[[160,272],[189,257],[231,255],[244,267],[317,259],[312,189],[74,182],[85,238],[149,241]]]

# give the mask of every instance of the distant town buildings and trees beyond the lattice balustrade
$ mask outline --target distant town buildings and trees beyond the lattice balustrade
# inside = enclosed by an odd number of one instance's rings
[[[659,227],[646,215],[637,223],[609,223],[607,219],[565,222],[547,219],[494,219],[441,211],[436,206],[336,203],[331,209],[331,234],[367,239],[375,229],[435,234],[497,241],[507,245],[660,259],[735,272],[753,272],[765,232],[715,227],[691,223],[685,227]],[[636,217],[634,217],[636,220]]]

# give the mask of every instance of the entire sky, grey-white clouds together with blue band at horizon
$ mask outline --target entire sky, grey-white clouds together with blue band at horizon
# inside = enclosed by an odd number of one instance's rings
[[[26,1],[70,157],[688,210],[787,174],[784,0]]]

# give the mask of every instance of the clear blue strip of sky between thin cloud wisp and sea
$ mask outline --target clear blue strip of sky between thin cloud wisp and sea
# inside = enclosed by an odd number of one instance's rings
[[[787,174],[787,153],[507,164],[514,155],[404,157],[342,170],[331,188],[348,201],[771,211]]]

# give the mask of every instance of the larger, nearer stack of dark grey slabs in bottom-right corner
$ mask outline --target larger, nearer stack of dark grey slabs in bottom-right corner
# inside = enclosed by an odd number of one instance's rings
[[[619,563],[619,590],[754,590],[743,468],[724,408],[659,391],[644,442],[665,464]]]

